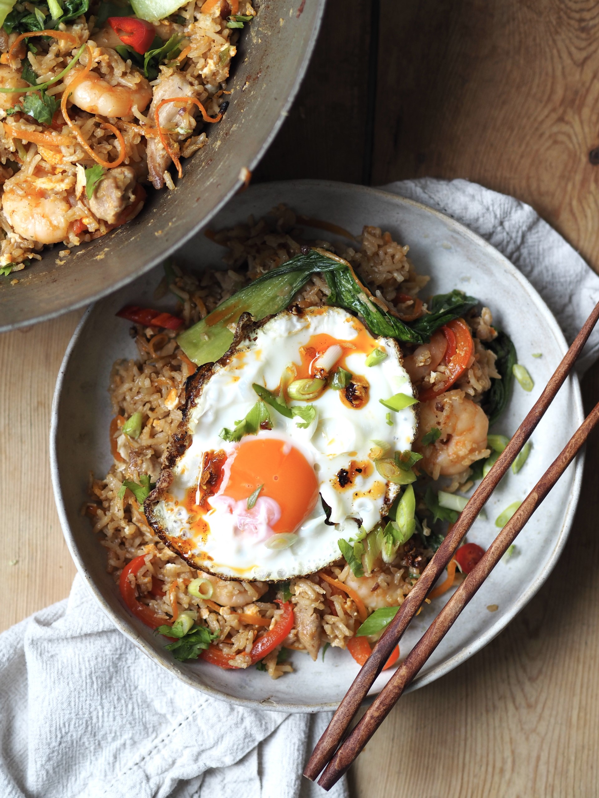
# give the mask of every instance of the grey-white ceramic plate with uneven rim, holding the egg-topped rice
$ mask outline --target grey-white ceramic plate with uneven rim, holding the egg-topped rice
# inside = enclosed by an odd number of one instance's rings
[[[510,406],[493,432],[512,435],[537,399],[567,349],[557,322],[530,283],[497,250],[454,219],[419,203],[371,188],[313,180],[262,184],[236,196],[213,220],[211,227],[227,227],[248,215],[268,213],[287,203],[303,215],[324,219],[358,234],[364,224],[375,224],[409,244],[417,271],[430,275],[430,293],[454,287],[466,290],[490,306],[494,321],[513,338],[518,359],[534,378],[526,393],[518,383]],[[328,239],[323,231],[309,231]],[[186,266],[217,267],[223,250],[204,235],[197,235],[178,253]],[[324,661],[312,662],[292,653],[294,674],[272,681],[256,668],[221,670],[205,662],[176,662],[153,635],[126,610],[113,578],[106,572],[105,549],[92,534],[89,519],[81,516],[90,471],[104,475],[112,460],[108,429],[111,409],[107,388],[109,371],[117,358],[136,358],[129,326],[114,318],[128,302],[156,306],[153,290],[161,280],[156,269],[89,308],[78,326],[61,366],[51,429],[54,494],[61,523],[77,568],[93,595],[118,628],[155,662],[189,685],[238,704],[271,709],[318,712],[334,709],[351,684],[358,666],[346,651],[328,649]],[[169,306],[169,299],[163,301]],[[170,302],[172,307],[172,302]],[[533,358],[533,353],[542,353]],[[515,500],[522,500],[541,473],[561,451],[583,419],[579,386],[570,377],[557,394],[533,436],[533,449],[518,475],[508,472],[478,519],[468,540],[486,548],[498,528],[494,520]],[[530,521],[518,550],[499,563],[478,595],[462,612],[450,634],[434,652],[411,685],[416,689],[464,662],[495,637],[530,600],[549,575],[568,535],[581,483],[579,458],[562,476],[553,492]],[[438,612],[443,596],[412,622],[401,644],[405,655]],[[497,605],[497,610],[488,610]],[[387,671],[373,686],[378,692],[390,676]]]

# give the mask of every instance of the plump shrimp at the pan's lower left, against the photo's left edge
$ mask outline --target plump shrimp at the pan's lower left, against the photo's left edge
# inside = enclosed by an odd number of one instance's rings
[[[61,183],[52,178],[28,178],[14,184],[6,180],[2,210],[14,231],[24,239],[41,244],[64,241],[69,235],[71,206],[58,192],[64,194],[73,185],[72,176],[63,177]]]

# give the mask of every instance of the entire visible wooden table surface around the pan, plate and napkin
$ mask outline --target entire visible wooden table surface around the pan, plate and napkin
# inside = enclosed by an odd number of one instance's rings
[[[307,78],[254,179],[475,180],[532,204],[597,269],[597,8],[329,0]],[[0,628],[64,598],[73,579],[47,441],[80,316],[0,336]],[[599,367],[583,390],[589,409]],[[486,649],[402,699],[352,769],[353,796],[599,795],[597,440],[545,586]]]

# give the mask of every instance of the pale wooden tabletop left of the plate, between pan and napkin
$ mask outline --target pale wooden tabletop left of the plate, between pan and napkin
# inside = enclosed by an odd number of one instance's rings
[[[50,483],[54,383],[82,311],[0,335],[0,630],[68,595],[75,567]]]

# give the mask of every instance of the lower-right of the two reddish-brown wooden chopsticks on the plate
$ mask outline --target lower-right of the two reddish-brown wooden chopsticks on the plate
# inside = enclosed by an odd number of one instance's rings
[[[582,444],[589,437],[593,427],[597,425],[597,421],[599,421],[599,403],[595,405],[576,433],[573,434],[573,437],[570,438],[569,443],[566,444],[561,454],[557,456],[556,460],[553,460],[553,464],[541,476],[541,479],[529,495],[526,496],[520,508],[506,523],[506,526],[503,527],[494,542],[491,543],[482,559],[470,571],[470,574],[459,585],[441,612],[434,618],[422,638],[420,638],[410,654],[407,655],[402,665],[395,671],[395,674],[387,682],[387,685],[383,687],[375,701],[372,702],[362,719],[355,726],[355,729],[352,730],[343,745],[335,753],[335,756],[327,764],[327,768],[325,768],[318,782],[325,790],[330,789],[343,776],[343,773],[347,771],[355,757],[358,756],[364,745],[367,744],[376,729],[379,728],[379,725],[391,712],[403,690],[418,674],[430,654],[433,653],[451,626],[453,626],[466,604],[478,591],[478,588],[481,587],[507,549],[514,543],[518,533],[530,519],[530,516],[533,515],[541,501],[545,499],[553,485],[556,484],[565,469],[568,468]]]

